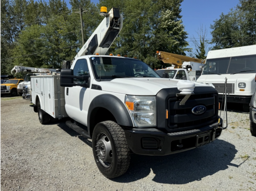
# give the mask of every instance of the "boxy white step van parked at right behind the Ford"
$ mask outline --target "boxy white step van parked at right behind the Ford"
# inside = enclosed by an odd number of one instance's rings
[[[249,112],[256,91],[256,45],[209,51],[202,75],[197,82],[214,85],[222,101],[227,78],[227,102],[241,103]]]

